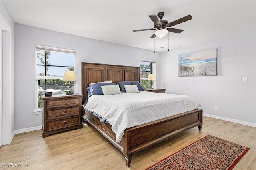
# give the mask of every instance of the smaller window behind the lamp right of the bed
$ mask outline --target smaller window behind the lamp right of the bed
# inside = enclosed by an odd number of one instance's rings
[[[150,89],[150,80],[148,80],[148,75],[155,74],[155,70],[155,61],[140,60],[140,84],[143,89]]]

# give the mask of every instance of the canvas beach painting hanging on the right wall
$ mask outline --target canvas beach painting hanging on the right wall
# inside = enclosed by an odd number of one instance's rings
[[[217,48],[179,55],[179,76],[217,75]]]

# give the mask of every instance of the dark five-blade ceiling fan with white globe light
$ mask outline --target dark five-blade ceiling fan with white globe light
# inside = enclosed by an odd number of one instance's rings
[[[184,30],[170,28],[170,27],[192,19],[192,16],[188,15],[178,20],[175,20],[173,22],[168,22],[167,20],[162,20],[163,16],[164,16],[164,12],[158,12],[157,16],[149,15],[149,18],[154,22],[154,28],[132,30],[132,31],[136,32],[136,31],[146,31],[146,30],[157,30],[150,38],[155,38],[155,37],[162,38],[166,36],[168,32],[181,33]]]

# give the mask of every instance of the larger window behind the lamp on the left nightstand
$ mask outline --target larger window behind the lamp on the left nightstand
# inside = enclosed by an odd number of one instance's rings
[[[74,50],[36,45],[36,109],[42,108],[45,92],[54,95],[69,91],[69,83],[63,77],[66,70],[74,71],[75,55]]]

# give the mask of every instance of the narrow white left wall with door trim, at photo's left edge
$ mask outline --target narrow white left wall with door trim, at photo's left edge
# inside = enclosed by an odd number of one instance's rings
[[[3,1],[0,1],[1,12],[1,29],[2,24],[6,33],[3,32],[6,37],[6,43],[3,42],[3,48],[8,51],[7,57],[3,56],[3,144],[8,144],[14,137],[14,20],[10,15]],[[4,21],[4,22],[3,22]],[[7,29],[6,29],[7,28]],[[7,40],[8,39],[8,40]],[[4,45],[6,44],[6,45]],[[4,54],[3,54],[4,55]],[[2,121],[2,120],[1,120]]]

